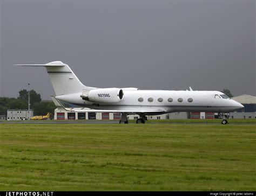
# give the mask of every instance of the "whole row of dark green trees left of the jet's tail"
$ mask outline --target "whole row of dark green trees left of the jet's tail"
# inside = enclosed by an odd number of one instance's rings
[[[29,96],[30,109],[33,109],[35,116],[54,113],[56,106],[52,101],[42,101],[41,95],[35,90],[28,92],[28,90],[23,89],[19,91],[17,98],[0,97],[0,115],[6,115],[8,109],[29,109]]]

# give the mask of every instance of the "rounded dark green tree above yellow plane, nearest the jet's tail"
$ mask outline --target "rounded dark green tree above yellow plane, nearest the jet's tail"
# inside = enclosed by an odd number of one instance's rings
[[[34,115],[46,115],[54,113],[56,106],[52,101],[37,102],[33,106]]]

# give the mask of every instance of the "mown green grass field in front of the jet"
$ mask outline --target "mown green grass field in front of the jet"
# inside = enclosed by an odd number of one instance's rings
[[[1,191],[255,191],[255,124],[0,124]]]

